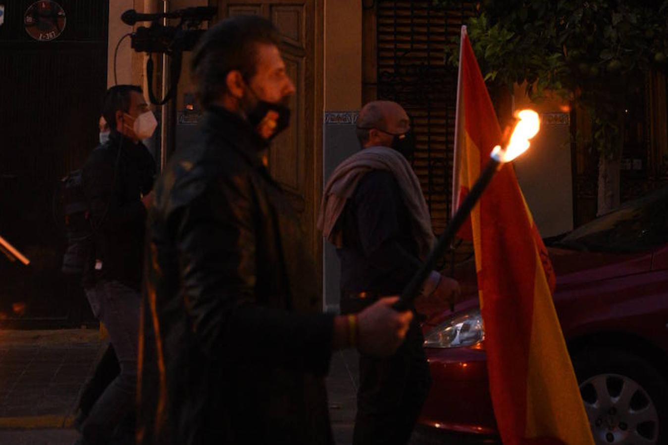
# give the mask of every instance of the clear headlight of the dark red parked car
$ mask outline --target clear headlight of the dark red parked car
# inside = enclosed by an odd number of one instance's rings
[[[475,308],[464,314],[449,318],[430,331],[425,340],[425,348],[463,348],[474,346],[485,339],[480,309]]]

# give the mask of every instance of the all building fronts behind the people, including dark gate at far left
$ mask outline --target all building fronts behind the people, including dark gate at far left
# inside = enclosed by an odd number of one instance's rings
[[[26,17],[43,3],[54,8],[55,3],[66,23],[54,16],[49,19],[53,26],[43,23],[53,29],[42,35],[33,32],[39,27],[30,26]],[[81,316],[87,310],[83,295],[58,273],[63,235],[57,215],[43,215],[53,213],[54,184],[81,167],[96,145],[105,89],[134,83],[148,91],[146,62],[152,57],[152,91],[158,98],[166,92],[162,71],[170,59],[163,64],[160,55],[134,51],[128,35],[148,23],[126,25],[122,13],[194,6],[217,7],[211,23],[238,14],[263,15],[283,35],[281,49],[297,94],[291,103],[293,125],[276,139],[269,168],[301,215],[323,286],[323,309],[337,308],[339,270],[333,248],[315,228],[317,209],[333,169],[359,149],[354,129],[363,103],[394,100],[411,116],[418,140],[413,167],[434,230],[444,230],[452,211],[457,80],[444,49],[454,45],[452,37],[476,13],[470,3],[442,9],[431,0],[0,0],[0,235],[35,258],[31,268],[0,263],[6,283],[0,289],[3,326],[86,319]],[[174,145],[187,143],[200,116],[189,63],[186,52],[175,99],[155,109],[164,124],[150,144],[158,164],[166,162]],[[166,80],[168,85],[172,79]],[[665,90],[665,77],[651,75],[645,94],[629,105],[623,199],[665,182]],[[534,149],[514,168],[542,235],[555,236],[595,215],[596,156],[576,143],[575,136],[586,137],[588,131],[582,113],[558,99],[532,104],[522,91],[516,87],[514,95],[494,94],[494,101],[502,121],[527,105],[542,115]]]

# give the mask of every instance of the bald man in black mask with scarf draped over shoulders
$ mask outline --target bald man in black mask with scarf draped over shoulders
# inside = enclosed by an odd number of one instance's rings
[[[341,260],[341,312],[356,313],[384,295],[400,294],[434,245],[410,120],[395,102],[374,101],[357,121],[361,151],[331,175],[319,227]],[[458,299],[459,286],[432,272],[422,299]],[[353,444],[405,444],[430,386],[424,338],[415,319],[389,358],[360,354]]]

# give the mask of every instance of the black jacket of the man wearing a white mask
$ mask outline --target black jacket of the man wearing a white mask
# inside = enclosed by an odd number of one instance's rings
[[[146,146],[116,131],[88,157],[83,189],[94,228],[96,252],[92,260],[101,260],[102,268],[94,273],[89,270],[84,286],[95,276],[140,289],[146,232],[142,195],[153,188],[155,175],[156,163]]]

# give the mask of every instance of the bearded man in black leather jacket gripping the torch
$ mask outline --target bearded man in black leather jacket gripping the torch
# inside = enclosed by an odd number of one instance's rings
[[[332,445],[335,350],[390,355],[397,297],[357,317],[320,313],[305,237],[263,157],[295,94],[281,34],[256,15],[210,27],[192,57],[205,110],[148,211],[139,444]]]

